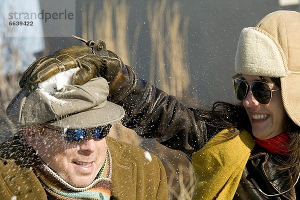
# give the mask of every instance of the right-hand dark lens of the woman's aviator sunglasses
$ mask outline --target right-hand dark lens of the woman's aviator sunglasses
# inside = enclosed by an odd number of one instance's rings
[[[265,82],[253,82],[251,90],[254,98],[261,104],[269,103],[271,99],[271,90]]]

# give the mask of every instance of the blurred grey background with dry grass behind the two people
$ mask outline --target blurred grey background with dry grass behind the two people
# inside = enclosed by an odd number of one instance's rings
[[[36,57],[59,48],[104,40],[107,49],[156,87],[187,106],[235,101],[231,86],[234,55],[243,27],[254,26],[269,12],[300,11],[300,0],[0,0],[0,141],[16,130],[5,108],[18,92],[20,74]],[[9,25],[15,10],[67,10],[67,20],[33,20],[34,27]],[[70,11],[71,10],[71,11]],[[18,11],[20,13],[20,11]],[[22,15],[24,16],[24,15]],[[23,20],[24,21],[24,20]],[[26,19],[30,21],[30,19]],[[55,26],[52,26],[55,25]],[[153,139],[136,136],[120,123],[110,136],[138,145],[163,162],[169,199],[191,199],[193,168],[184,155]]]

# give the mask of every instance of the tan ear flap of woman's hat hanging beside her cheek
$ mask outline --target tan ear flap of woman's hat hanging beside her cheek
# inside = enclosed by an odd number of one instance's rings
[[[300,126],[300,78],[298,73],[289,74],[280,78],[281,95],[284,109],[289,118]]]

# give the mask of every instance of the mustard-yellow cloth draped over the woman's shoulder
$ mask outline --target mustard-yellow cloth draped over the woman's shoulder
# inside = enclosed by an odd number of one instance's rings
[[[252,136],[241,131],[236,137],[221,141],[223,129],[192,155],[197,185],[194,199],[232,199],[242,171],[254,147]]]

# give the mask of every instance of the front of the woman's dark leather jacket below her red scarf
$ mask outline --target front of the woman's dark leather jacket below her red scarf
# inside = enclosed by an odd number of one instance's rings
[[[281,155],[269,153],[256,144],[243,170],[233,199],[300,199],[300,183],[281,195],[266,196],[258,190],[273,195],[290,188],[283,183],[282,176],[275,177],[278,156]],[[289,176],[289,174],[284,175]]]

